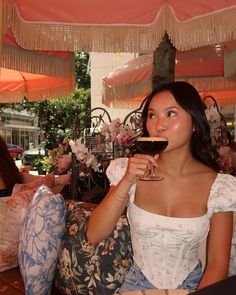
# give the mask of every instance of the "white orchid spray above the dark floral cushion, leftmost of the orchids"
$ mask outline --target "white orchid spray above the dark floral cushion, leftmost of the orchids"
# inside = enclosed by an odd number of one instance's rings
[[[81,139],[70,140],[72,153],[75,154],[80,166],[84,169],[80,171],[80,176],[84,176],[86,168],[91,168],[95,172],[99,171],[99,163],[91,151],[81,142]]]

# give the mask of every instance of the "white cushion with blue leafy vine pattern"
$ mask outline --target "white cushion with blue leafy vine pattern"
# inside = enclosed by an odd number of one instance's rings
[[[51,293],[65,219],[62,196],[41,186],[32,198],[20,232],[18,258],[26,294]]]

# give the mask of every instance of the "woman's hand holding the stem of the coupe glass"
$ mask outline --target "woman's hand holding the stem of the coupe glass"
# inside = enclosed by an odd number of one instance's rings
[[[152,165],[155,167],[158,166],[158,158],[158,155],[153,157],[147,154],[135,154],[133,157],[129,158],[124,178],[133,185],[137,182],[139,177],[149,175]]]

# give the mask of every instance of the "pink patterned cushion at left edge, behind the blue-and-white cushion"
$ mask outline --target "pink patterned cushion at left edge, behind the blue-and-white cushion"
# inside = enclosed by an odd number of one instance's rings
[[[0,198],[0,271],[18,265],[20,228],[32,194],[25,191]]]

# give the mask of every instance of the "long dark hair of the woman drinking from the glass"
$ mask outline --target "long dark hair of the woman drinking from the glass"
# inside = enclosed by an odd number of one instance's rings
[[[143,136],[148,136],[146,128],[147,113],[152,98],[163,91],[169,91],[176,102],[191,116],[195,131],[191,138],[191,153],[195,159],[219,172],[216,162],[217,152],[212,146],[210,126],[205,115],[205,105],[197,90],[189,83],[177,81],[157,86],[143,102]]]

